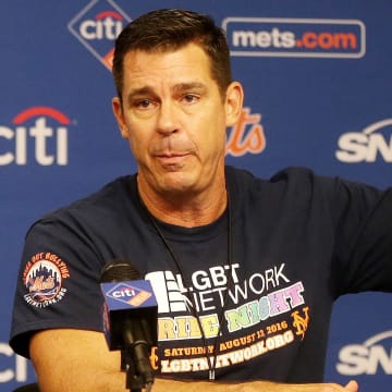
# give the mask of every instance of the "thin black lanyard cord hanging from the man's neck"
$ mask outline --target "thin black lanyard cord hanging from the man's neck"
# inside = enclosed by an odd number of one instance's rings
[[[170,246],[167,237],[164,236],[164,234],[162,233],[161,229],[158,225],[158,222],[156,221],[156,219],[152,217],[152,215],[148,211],[147,207],[145,206],[145,204],[143,203],[142,198],[139,197],[140,204],[144,207],[144,209],[147,211],[147,216],[152,224],[152,226],[155,228],[155,230],[157,231],[159,237],[162,240],[162,243],[164,244],[164,247],[167,248],[167,250],[169,252],[169,254],[171,255],[176,269],[180,272],[180,275],[183,280],[183,282],[185,283],[185,285],[187,287],[189,287],[191,285],[188,284],[188,282],[186,282],[185,280],[185,274],[183,272],[183,269],[181,267],[181,264],[179,261],[179,258],[175,256],[175,253],[173,250],[173,248]],[[229,197],[229,193],[228,193],[228,264],[229,264],[229,271],[232,271],[232,265],[233,265],[233,233],[232,233],[232,210],[231,210],[231,203],[230,203],[230,197]],[[229,297],[229,281],[231,281],[231,279],[228,279],[228,284],[226,284],[226,290],[224,292],[224,297],[223,297],[223,302],[222,302],[222,308],[218,318],[218,332],[217,332],[217,338],[215,341],[215,345],[213,345],[213,351],[212,351],[212,356],[210,356],[210,353],[208,352],[208,347],[207,347],[207,341],[206,341],[206,334],[204,332],[203,326],[201,326],[201,321],[200,321],[200,317],[196,310],[196,304],[194,298],[192,297],[192,295],[187,295],[186,297],[187,299],[191,302],[192,304],[192,315],[195,317],[198,328],[200,330],[201,333],[201,342],[203,342],[203,346],[206,351],[206,356],[207,356],[207,364],[208,364],[208,379],[210,381],[215,380],[215,370],[217,367],[217,355],[218,355],[218,346],[220,343],[220,338],[221,338],[221,326],[222,326],[222,321],[223,321],[223,316],[224,316],[224,308],[226,305],[226,301]]]

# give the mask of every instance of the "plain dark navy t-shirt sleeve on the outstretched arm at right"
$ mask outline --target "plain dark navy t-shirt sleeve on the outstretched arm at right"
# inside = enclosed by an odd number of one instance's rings
[[[392,188],[335,181],[338,294],[392,292]]]

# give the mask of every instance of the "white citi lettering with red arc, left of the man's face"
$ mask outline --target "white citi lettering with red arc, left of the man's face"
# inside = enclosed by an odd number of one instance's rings
[[[68,164],[70,119],[64,113],[50,107],[33,107],[16,114],[12,123],[14,127],[0,125],[0,166],[24,166],[29,161]]]

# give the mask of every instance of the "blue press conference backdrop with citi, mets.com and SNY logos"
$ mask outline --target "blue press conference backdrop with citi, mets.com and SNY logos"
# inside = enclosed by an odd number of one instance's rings
[[[45,211],[135,171],[110,108],[113,39],[139,14],[172,7],[210,13],[228,33],[246,91],[229,163],[264,177],[305,166],[392,184],[391,0],[2,0],[1,391],[35,379],[7,343],[24,234]],[[391,303],[338,302],[327,381],[391,390]]]

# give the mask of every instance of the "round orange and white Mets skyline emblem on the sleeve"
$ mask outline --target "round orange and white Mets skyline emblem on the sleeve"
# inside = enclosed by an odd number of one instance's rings
[[[37,308],[57,304],[66,293],[63,281],[70,278],[66,264],[52,253],[38,253],[26,264],[23,283],[27,290],[24,299]]]

